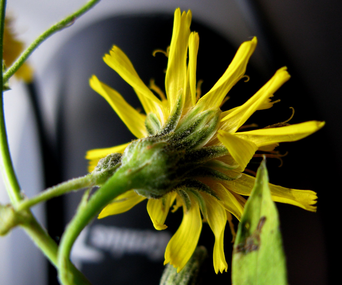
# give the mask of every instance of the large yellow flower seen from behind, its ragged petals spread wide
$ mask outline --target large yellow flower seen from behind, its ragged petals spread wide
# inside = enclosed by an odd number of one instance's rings
[[[196,58],[199,36],[196,32],[190,32],[191,17],[191,11],[182,14],[180,9],[175,11],[171,45],[166,52],[166,96],[153,82],[150,86],[160,99],[144,84],[126,54],[118,47],[113,46],[110,53],[104,56],[105,63],[132,86],[146,115],[136,111],[117,91],[93,75],[90,86],[107,100],[138,140],[131,144],[90,150],[86,158],[90,160],[89,170],[92,171],[101,158],[125,150],[127,153],[127,149],[141,138],[157,140],[164,136],[172,138],[173,142],[180,140],[177,150],[183,147],[184,152],[191,153],[193,159],[197,159],[196,163],[189,167],[193,169],[188,170],[186,177],[182,177],[183,180],[171,191],[161,197],[156,194],[145,195],[148,196],[147,211],[154,227],[163,230],[167,228],[164,223],[170,208],[173,206],[173,212],[183,207],[182,223],[165,252],[165,264],[173,264],[178,272],[192,255],[201,232],[202,217],[205,218],[215,236],[213,263],[218,273],[227,271],[228,267],[223,251],[226,222],[231,225],[231,213],[240,219],[246,202],[241,195],[250,195],[254,185],[255,178],[241,172],[255,151],[271,151],[279,142],[302,139],[323,127],[324,122],[308,121],[239,132],[239,128],[255,111],[272,107],[274,102],[270,98],[290,76],[286,67],[280,68],[245,104],[221,112],[220,105],[227,92],[245,75],[257,39],[242,43],[222,77],[207,94],[198,98]],[[205,159],[198,162],[199,156],[205,152]],[[317,196],[313,191],[288,189],[273,184],[270,184],[270,188],[277,202],[309,211],[316,210],[313,205]],[[137,193],[144,192],[135,189],[118,196],[102,210],[98,218],[125,212],[146,199]]]

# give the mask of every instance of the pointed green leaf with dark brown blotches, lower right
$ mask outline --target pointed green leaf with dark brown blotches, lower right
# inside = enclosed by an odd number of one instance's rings
[[[234,285],[286,285],[286,260],[278,211],[271,199],[264,159],[238,225],[232,259]]]

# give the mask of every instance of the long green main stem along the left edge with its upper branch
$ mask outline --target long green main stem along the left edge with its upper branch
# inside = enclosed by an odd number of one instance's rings
[[[14,208],[22,200],[20,193],[20,186],[16,178],[7,141],[7,133],[5,128],[4,109],[3,109],[3,85],[8,79],[18,70],[18,68],[26,61],[27,57],[39,46],[39,44],[46,38],[51,36],[58,30],[63,29],[70,23],[74,22],[77,17],[87,12],[100,0],[91,0],[84,5],[80,10],[53,25],[50,29],[45,31],[38,37],[19,57],[19,59],[8,69],[3,75],[2,69],[0,72],[0,169],[4,179],[5,187]],[[3,31],[5,22],[5,7],[6,0],[0,0],[0,64],[3,62]],[[51,192],[49,193],[49,195]],[[46,194],[45,194],[46,195]],[[46,198],[46,197],[45,197]],[[38,199],[41,199],[38,198]],[[30,202],[31,203],[31,202]],[[37,222],[32,213],[28,210],[28,218],[21,224],[26,233],[31,237],[32,241],[44,253],[44,255],[51,261],[52,264],[57,266],[57,244],[48,235],[48,233]],[[70,261],[65,263],[68,268],[67,274],[73,276],[72,279],[77,282],[76,284],[90,284],[84,275],[79,272]]]

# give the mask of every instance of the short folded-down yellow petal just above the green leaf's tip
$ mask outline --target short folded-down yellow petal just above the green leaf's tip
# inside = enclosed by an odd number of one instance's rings
[[[237,137],[235,134],[230,134],[223,130],[219,130],[217,138],[223,143],[229,154],[238,163],[240,171],[243,171],[246,168],[253,157],[253,154],[258,150],[258,146],[255,143],[244,140]]]

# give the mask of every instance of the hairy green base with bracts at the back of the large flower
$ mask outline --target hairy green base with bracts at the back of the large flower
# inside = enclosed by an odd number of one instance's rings
[[[196,169],[203,172],[208,160],[227,153],[225,147],[202,147],[216,132],[219,118],[219,109],[210,109],[184,119],[174,131],[163,135],[158,133],[157,118],[147,116],[147,129],[156,134],[133,141],[124,151],[118,171],[130,177],[135,192],[148,198],[180,191],[187,187],[186,181],[197,176]],[[209,174],[213,173],[215,178],[232,179],[216,170]]]

